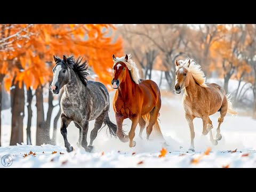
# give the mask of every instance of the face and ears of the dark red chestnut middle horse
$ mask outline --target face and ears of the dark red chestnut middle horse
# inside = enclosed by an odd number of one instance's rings
[[[116,57],[113,54],[113,60],[115,60]],[[128,60],[128,55],[125,55],[125,61],[127,62]],[[113,66],[113,79],[111,81],[111,84],[114,89],[118,89],[119,85],[125,81],[126,78],[126,70],[128,70],[127,66],[125,65],[124,62],[118,61],[115,63]]]

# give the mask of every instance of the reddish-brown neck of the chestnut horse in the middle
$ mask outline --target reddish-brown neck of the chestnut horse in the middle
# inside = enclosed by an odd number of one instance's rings
[[[132,98],[135,86],[137,86],[137,84],[134,83],[129,71],[127,70],[126,79],[119,85],[118,92],[121,94],[123,99]]]

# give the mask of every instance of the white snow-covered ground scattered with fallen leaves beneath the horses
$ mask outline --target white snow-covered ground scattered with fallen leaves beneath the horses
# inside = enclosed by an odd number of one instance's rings
[[[155,81],[159,83],[158,80]],[[214,79],[209,79],[209,82],[214,81]],[[235,83],[230,83],[230,90],[236,87]],[[190,135],[181,105],[182,94],[172,95],[170,91],[164,90],[165,86],[166,84],[163,82],[162,107],[159,116],[161,130],[169,145],[164,157],[158,157],[163,148],[162,143],[154,140],[146,141],[146,130],[142,135],[145,139],[140,140],[138,137],[139,126],[135,134],[137,145],[134,148],[130,148],[128,143],[122,143],[119,139],[110,137],[106,127],[104,127],[94,140],[93,152],[87,153],[83,148],[76,146],[78,129],[74,123],[71,123],[67,129],[68,141],[75,149],[71,153],[66,152],[59,130],[57,131],[57,146],[28,146],[25,144],[9,146],[11,111],[7,109],[2,111],[0,158],[10,154],[13,159],[10,167],[256,167],[256,121],[251,116],[244,116],[244,109],[238,109],[238,113],[241,112],[238,116],[228,114],[225,117],[221,124],[222,140],[217,146],[211,144],[209,135],[202,136],[202,119],[196,118],[194,120],[196,151],[193,153],[187,151],[190,145]],[[113,98],[114,92],[110,92],[111,98]],[[47,104],[44,104],[46,111]],[[115,121],[112,103],[110,106],[109,116],[112,121]],[[35,145],[36,108],[34,100],[33,111],[31,135],[32,143]],[[53,116],[57,112],[58,107],[54,109]],[[213,135],[215,135],[215,129],[218,125],[218,117],[219,113],[210,117],[214,126]],[[24,119],[24,132],[26,133],[27,110],[25,110]],[[93,124],[94,121],[89,123],[89,133]],[[130,120],[125,119],[124,124],[126,125],[123,126],[123,129],[128,132],[131,126]],[[58,127],[60,127],[60,122],[58,122]],[[88,140],[90,140],[89,135]],[[24,141],[26,141],[26,134],[24,134]],[[209,155],[202,155],[209,148],[211,148]],[[30,151],[36,155],[23,157]],[[52,154],[53,151],[57,151],[57,153]],[[193,159],[196,163],[193,163]],[[0,167],[4,166],[0,164]]]

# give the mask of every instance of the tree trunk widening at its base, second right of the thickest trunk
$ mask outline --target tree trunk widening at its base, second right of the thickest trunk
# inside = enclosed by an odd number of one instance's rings
[[[42,145],[50,140],[50,136],[45,132],[44,129],[44,105],[43,105],[43,87],[38,86],[36,89],[36,145]]]

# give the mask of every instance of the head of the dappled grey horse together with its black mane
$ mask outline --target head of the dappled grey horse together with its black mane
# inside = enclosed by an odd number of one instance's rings
[[[87,70],[88,64],[86,60],[82,62],[83,58],[80,59],[80,57],[78,57],[75,60],[74,56],[67,58],[65,55],[63,55],[63,60],[61,60],[59,57],[55,57],[54,55],[53,59],[56,64],[52,69],[53,81],[50,86],[50,90],[53,94],[58,94],[60,89],[69,83],[72,71],[77,74],[77,77],[81,80],[81,83],[86,86],[86,76],[90,75],[89,71]]]

